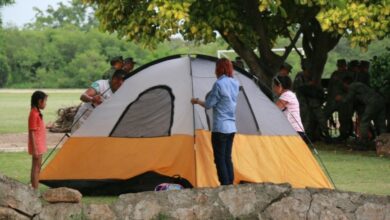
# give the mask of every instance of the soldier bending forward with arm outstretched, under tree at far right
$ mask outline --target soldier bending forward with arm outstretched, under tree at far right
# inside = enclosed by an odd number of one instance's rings
[[[364,111],[359,125],[361,144],[359,147],[361,149],[367,148],[369,128],[372,120],[379,134],[386,132],[384,99],[367,85],[361,82],[353,82],[352,77],[344,77],[343,84],[348,91],[347,95],[338,95],[336,96],[336,100],[342,102],[358,101],[364,105]]]

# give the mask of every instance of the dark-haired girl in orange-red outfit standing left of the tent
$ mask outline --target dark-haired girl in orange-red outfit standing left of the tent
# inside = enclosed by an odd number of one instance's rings
[[[32,156],[31,185],[38,189],[42,155],[47,151],[46,127],[41,109],[46,107],[47,95],[35,91],[31,96],[31,111],[28,117],[28,153]]]

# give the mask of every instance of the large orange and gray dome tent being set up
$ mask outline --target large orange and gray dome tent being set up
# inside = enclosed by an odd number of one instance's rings
[[[212,111],[190,103],[211,90],[215,62],[208,56],[177,55],[138,68],[64,143],[40,181],[109,194],[153,190],[175,180],[188,187],[218,186]],[[234,77],[240,83],[234,183],[332,188],[308,146],[255,78],[238,68]]]

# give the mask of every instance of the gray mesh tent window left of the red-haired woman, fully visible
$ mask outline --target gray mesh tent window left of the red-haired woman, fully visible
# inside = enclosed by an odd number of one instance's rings
[[[167,86],[156,86],[142,92],[130,103],[111,137],[163,137],[171,134],[174,96]]]

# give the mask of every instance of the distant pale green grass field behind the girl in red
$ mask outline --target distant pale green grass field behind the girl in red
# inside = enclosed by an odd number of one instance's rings
[[[54,122],[61,107],[78,105],[83,90],[43,90],[49,97],[42,114],[45,123]],[[30,99],[34,90],[0,90],[0,134],[27,132]]]

